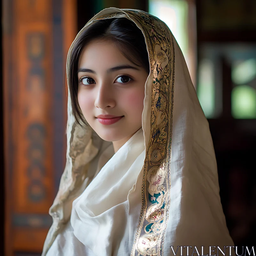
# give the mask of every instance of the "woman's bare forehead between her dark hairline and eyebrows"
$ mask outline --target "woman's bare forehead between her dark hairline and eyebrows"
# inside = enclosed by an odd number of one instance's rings
[[[85,45],[78,60],[78,68],[109,68],[113,65],[132,64],[115,43],[108,41],[93,40]]]

